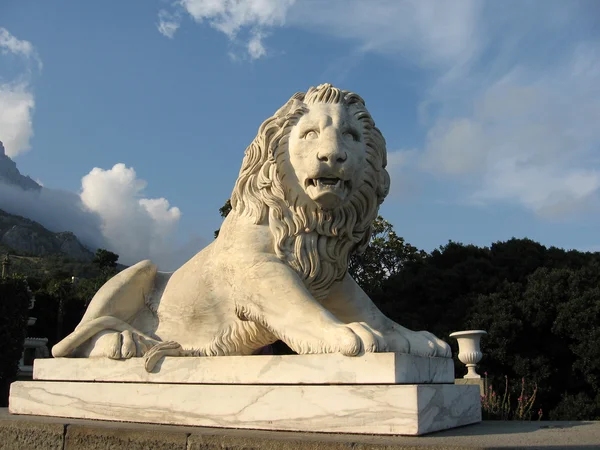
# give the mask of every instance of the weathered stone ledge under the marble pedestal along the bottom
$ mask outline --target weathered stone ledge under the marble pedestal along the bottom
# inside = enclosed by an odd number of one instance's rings
[[[0,450],[597,449],[600,422],[483,422],[423,437],[215,429],[18,416],[0,409]]]

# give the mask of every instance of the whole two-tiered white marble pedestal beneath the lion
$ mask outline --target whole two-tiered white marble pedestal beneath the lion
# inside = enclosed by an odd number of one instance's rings
[[[398,360],[404,364],[397,366]],[[416,367],[422,369],[422,384],[413,381]],[[139,370],[138,359],[36,360],[36,381],[12,384],[9,411],[172,425],[420,435],[481,421],[478,387],[448,382],[448,375],[454,381],[448,367],[452,360],[393,353],[167,358],[151,374]]]

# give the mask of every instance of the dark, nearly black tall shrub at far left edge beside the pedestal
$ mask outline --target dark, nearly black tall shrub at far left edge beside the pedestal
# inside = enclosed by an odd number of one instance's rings
[[[0,279],[0,406],[7,405],[10,383],[19,369],[29,303],[30,293],[23,278]]]

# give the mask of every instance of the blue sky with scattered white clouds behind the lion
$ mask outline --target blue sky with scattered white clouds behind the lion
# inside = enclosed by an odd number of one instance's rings
[[[0,140],[52,195],[0,208],[173,268],[260,123],[331,82],[386,137],[408,242],[599,250],[599,23],[594,0],[4,0]]]

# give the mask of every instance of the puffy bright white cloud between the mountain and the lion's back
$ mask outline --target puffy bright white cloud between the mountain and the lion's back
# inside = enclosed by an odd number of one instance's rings
[[[164,198],[142,198],[146,182],[133,168],[124,164],[109,170],[94,168],[81,185],[83,205],[100,217],[108,246],[125,263],[156,260],[168,253],[181,212]]]

